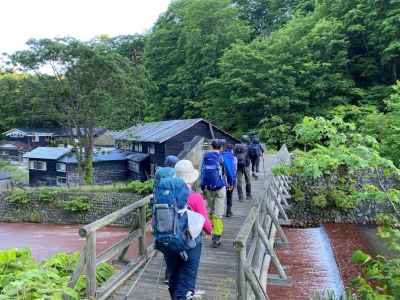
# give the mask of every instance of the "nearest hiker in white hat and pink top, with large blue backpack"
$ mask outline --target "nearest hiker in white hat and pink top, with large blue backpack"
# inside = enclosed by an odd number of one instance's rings
[[[176,177],[165,176],[155,186],[154,245],[164,254],[171,299],[187,300],[195,294],[202,231],[211,234],[212,225],[204,199],[191,190],[199,172],[188,160],[179,161],[174,171]],[[167,175],[168,172],[164,173]]]

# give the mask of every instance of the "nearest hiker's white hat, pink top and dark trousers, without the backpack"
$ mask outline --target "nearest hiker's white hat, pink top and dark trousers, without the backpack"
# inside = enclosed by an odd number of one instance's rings
[[[200,214],[203,218],[203,222],[199,222],[197,225],[206,234],[211,234],[212,225],[208,219],[207,209],[204,203],[203,196],[200,193],[192,191],[193,183],[199,177],[199,171],[197,171],[191,161],[181,160],[176,166],[176,176],[181,178],[188,186],[190,194],[187,200],[187,207],[191,212]],[[191,217],[188,217],[189,230],[191,229]],[[190,250],[187,250],[187,261],[184,261],[177,255],[167,255],[167,269],[169,275],[169,290],[171,299],[192,299],[195,294],[196,279],[200,263],[201,248],[202,248],[202,233],[200,232],[197,237],[194,238],[195,246]]]

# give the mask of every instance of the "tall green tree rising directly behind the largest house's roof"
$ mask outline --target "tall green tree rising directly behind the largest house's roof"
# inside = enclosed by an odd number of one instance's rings
[[[153,117],[206,115],[206,81],[218,77],[224,51],[248,38],[249,27],[229,0],[174,1],[145,46],[145,65],[157,86]]]

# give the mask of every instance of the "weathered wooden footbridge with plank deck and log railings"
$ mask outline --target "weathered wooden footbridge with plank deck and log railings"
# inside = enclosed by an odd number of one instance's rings
[[[290,197],[289,182],[288,178],[271,174],[272,166],[289,160],[285,146],[276,155],[265,156],[261,175],[252,182],[253,200],[234,199],[234,216],[225,218],[222,247],[214,249],[211,240],[204,239],[197,281],[201,299],[269,299],[267,284],[290,284],[274,250],[277,245],[288,245],[281,224],[288,221],[284,207]],[[153,250],[151,243],[146,244],[150,230],[145,221],[148,202],[146,197],[80,229],[87,243],[71,278],[71,287],[80,274],[86,273],[90,299],[169,299],[168,287],[163,282],[163,256]],[[97,254],[96,231],[132,213],[137,214],[138,224],[128,236]],[[134,245],[138,247],[138,257],[127,260],[128,248]],[[123,267],[105,285],[96,287],[96,266],[113,259],[123,263]],[[271,264],[278,274],[269,274]]]

